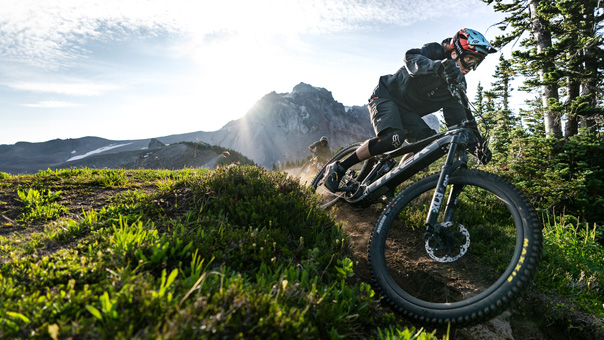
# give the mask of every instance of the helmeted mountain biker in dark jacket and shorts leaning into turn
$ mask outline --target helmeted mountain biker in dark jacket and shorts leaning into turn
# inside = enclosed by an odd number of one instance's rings
[[[420,140],[436,134],[421,118],[424,115],[442,109],[447,126],[461,123],[467,118],[466,110],[453,97],[448,83],[467,88],[464,76],[495,52],[482,34],[469,28],[461,29],[440,44],[433,42],[408,50],[403,66],[395,74],[381,76],[369,99],[376,137],[365,141],[342,162],[329,164],[325,169],[325,187],[336,192],[347,169],[400,147],[406,137]]]

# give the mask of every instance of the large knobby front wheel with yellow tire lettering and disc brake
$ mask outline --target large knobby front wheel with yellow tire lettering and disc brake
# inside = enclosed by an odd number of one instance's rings
[[[459,169],[440,199],[436,228],[427,229],[438,176],[401,191],[379,217],[369,242],[373,279],[391,305],[418,322],[480,323],[503,312],[534,277],[541,228],[512,184]],[[449,202],[452,191],[459,196]]]

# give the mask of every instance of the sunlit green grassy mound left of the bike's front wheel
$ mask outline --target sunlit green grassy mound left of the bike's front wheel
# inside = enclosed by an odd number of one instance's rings
[[[282,173],[1,180],[2,339],[436,339],[382,309],[341,226]]]

